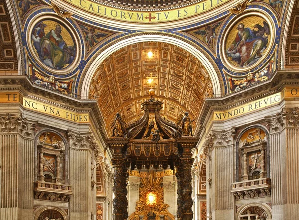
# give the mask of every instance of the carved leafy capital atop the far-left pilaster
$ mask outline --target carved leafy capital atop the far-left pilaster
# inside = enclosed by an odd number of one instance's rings
[[[11,115],[7,113],[0,116],[0,132],[16,133],[19,132],[24,137],[33,138],[36,131],[37,122],[29,122],[21,113]]]

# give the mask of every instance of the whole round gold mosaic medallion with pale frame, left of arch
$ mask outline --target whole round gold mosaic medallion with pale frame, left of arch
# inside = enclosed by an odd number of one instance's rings
[[[45,70],[65,74],[79,64],[77,35],[66,21],[42,16],[30,24],[28,33],[29,50]]]

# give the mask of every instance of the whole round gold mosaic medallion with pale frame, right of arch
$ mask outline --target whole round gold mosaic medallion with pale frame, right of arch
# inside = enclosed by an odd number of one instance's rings
[[[273,47],[275,31],[266,15],[247,12],[228,24],[222,41],[221,59],[233,72],[252,70]]]

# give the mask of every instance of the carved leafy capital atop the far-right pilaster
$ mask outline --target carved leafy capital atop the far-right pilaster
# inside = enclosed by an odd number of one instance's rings
[[[275,116],[266,117],[270,134],[282,131],[286,127],[299,127],[299,108],[283,108]]]

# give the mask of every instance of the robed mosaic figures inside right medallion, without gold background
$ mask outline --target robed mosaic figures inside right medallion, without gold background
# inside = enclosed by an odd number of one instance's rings
[[[227,50],[227,55],[238,62],[240,67],[250,66],[262,57],[268,43],[267,35],[270,34],[269,25],[265,21],[263,24],[263,27],[255,24],[253,30],[245,27],[243,23],[238,24],[238,32]]]

